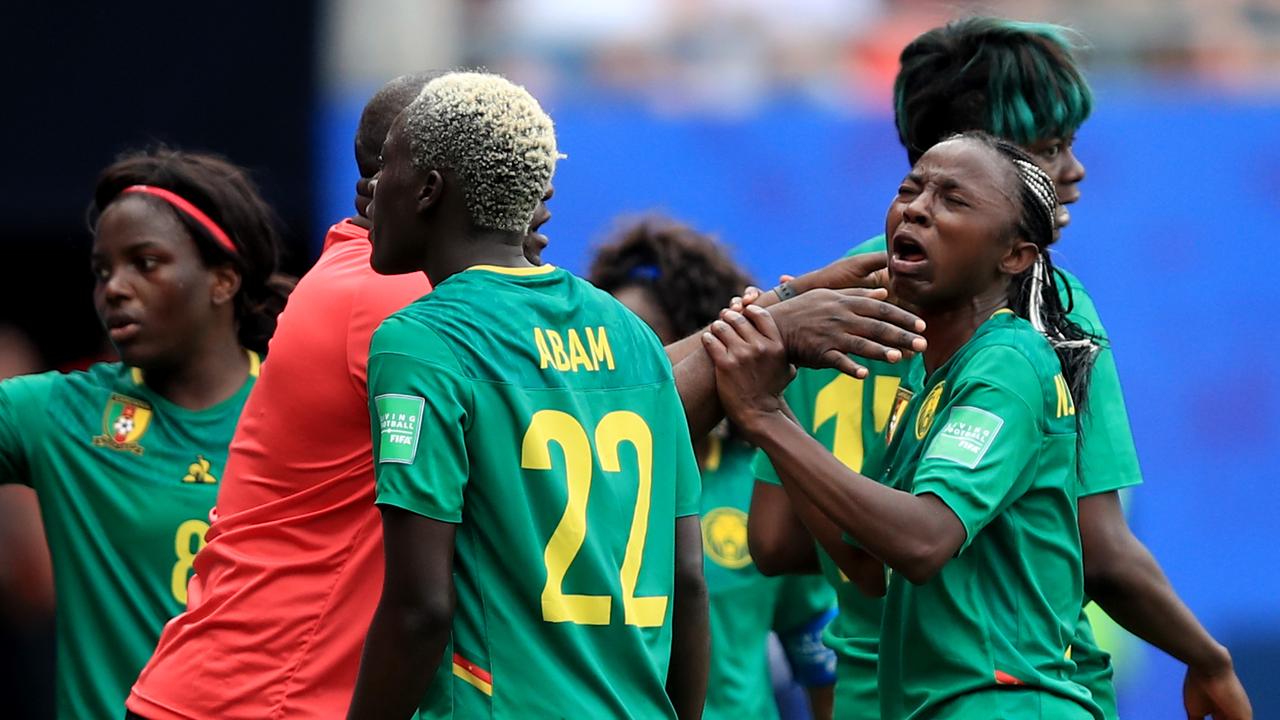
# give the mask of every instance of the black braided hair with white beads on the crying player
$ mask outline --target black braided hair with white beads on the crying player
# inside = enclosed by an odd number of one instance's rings
[[[1048,251],[1048,246],[1053,242],[1053,217],[1057,210],[1053,181],[1039,169],[1030,155],[1012,142],[980,131],[965,132],[952,138],[978,141],[998,152],[1014,168],[1019,179],[1018,200],[1021,211],[1012,232],[1033,242],[1039,249],[1039,258],[1009,283],[1009,309],[1029,320],[1053,346],[1079,418],[1088,400],[1089,377],[1101,341],[1071,320],[1074,302],[1071,288],[1061,272],[1053,266]]]

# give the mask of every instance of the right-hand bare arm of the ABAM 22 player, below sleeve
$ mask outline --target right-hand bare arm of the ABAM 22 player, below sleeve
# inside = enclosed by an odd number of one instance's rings
[[[703,530],[698,515],[676,518],[676,587],[671,609],[667,697],[680,720],[703,716],[710,670],[710,619],[703,579]]]

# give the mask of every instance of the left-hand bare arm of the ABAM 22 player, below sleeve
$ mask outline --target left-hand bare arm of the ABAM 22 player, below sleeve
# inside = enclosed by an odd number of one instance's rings
[[[351,720],[412,717],[453,625],[457,525],[381,506],[387,575],[360,659]]]

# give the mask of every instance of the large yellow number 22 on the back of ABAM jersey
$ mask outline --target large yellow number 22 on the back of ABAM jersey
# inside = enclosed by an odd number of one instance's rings
[[[586,539],[586,501],[591,493],[591,441],[576,418],[559,410],[540,410],[534,414],[521,442],[520,466],[526,470],[550,470],[550,443],[564,454],[564,480],[568,502],[564,515],[552,532],[543,552],[547,565],[547,584],[543,587],[543,620],[548,623],[576,623],[581,625],[608,625],[612,598],[607,594],[566,594],[564,574]],[[595,427],[595,451],[600,469],[621,473],[618,448],[631,443],[639,462],[640,486],[636,506],[631,515],[631,532],[622,557],[622,610],[627,625],[640,628],[660,626],[667,616],[667,596],[636,597],[640,562],[644,559],[645,534],[649,530],[649,495],[653,489],[653,433],[640,415],[626,410],[609,413]]]

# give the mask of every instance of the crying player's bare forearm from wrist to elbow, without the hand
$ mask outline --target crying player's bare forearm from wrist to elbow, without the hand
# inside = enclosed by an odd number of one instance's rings
[[[781,414],[753,421],[751,437],[835,528],[911,582],[924,582],[951,556],[959,520],[941,501],[897,491],[854,473]],[[801,516],[803,518],[803,516]],[[820,538],[819,538],[820,539]]]

